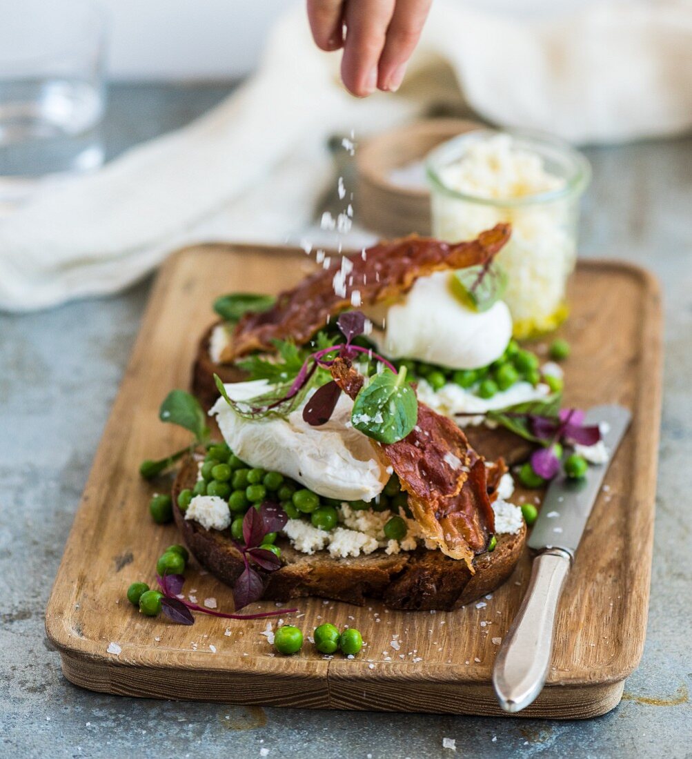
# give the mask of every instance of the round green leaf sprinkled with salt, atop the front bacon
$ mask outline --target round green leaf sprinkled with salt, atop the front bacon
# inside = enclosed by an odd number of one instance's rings
[[[379,442],[404,439],[416,426],[418,401],[406,382],[406,367],[398,374],[384,368],[356,396],[353,426]]]

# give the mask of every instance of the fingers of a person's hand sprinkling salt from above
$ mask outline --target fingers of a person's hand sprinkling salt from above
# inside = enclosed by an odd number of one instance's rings
[[[307,16],[320,49],[344,49],[341,79],[366,97],[376,89],[398,90],[432,2],[307,0]]]

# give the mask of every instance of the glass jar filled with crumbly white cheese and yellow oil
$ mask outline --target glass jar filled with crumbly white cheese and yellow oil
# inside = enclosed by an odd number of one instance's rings
[[[478,129],[437,147],[426,168],[433,235],[458,242],[511,223],[497,260],[508,274],[514,335],[555,329],[568,313],[579,199],[591,176],[587,159],[552,137]]]

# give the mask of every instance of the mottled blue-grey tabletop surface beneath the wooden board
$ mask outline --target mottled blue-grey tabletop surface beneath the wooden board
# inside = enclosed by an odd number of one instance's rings
[[[105,145],[184,124],[228,93],[112,87]],[[587,150],[581,254],[648,266],[665,292],[665,398],[646,648],[596,720],[246,709],[92,693],[61,675],[43,614],[151,279],[115,298],[0,315],[0,756],[692,756],[692,138]],[[456,740],[456,752],[442,748]],[[262,749],[269,749],[265,754]]]

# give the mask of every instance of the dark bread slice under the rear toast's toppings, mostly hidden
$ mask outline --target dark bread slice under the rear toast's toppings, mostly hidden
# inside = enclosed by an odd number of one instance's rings
[[[224,383],[243,382],[244,379],[247,379],[247,373],[243,370],[234,367],[232,364],[216,364],[209,356],[209,341],[212,331],[219,324],[222,322],[212,324],[200,340],[190,383],[193,395],[197,397],[206,411],[209,411],[209,408],[212,408],[219,398],[214,374],[218,374]],[[510,467],[526,461],[533,450],[530,442],[502,427],[495,430],[483,425],[464,427],[464,434],[467,436],[471,448],[477,450],[489,461],[504,458],[505,463]]]

